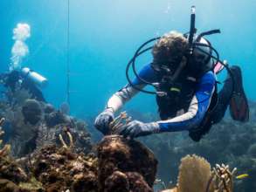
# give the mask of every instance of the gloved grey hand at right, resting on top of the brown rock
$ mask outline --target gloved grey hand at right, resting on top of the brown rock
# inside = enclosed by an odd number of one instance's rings
[[[156,122],[142,123],[138,120],[129,122],[126,126],[121,127],[119,134],[124,137],[140,137],[148,134],[154,134],[159,132],[159,125]]]

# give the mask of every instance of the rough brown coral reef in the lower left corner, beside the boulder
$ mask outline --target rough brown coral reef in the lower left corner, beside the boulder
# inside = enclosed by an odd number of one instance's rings
[[[63,147],[42,147],[17,161],[9,155],[10,145],[5,145],[0,150],[0,191],[97,191],[97,159],[74,153],[73,136],[66,134],[68,143],[59,134]]]

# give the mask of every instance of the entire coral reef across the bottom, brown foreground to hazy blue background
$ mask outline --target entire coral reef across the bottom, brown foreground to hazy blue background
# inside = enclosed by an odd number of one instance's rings
[[[231,192],[233,186],[239,192],[256,190],[255,119],[246,124],[224,120],[199,143],[183,133],[135,141],[114,135],[131,120],[121,113],[111,123],[113,135],[93,147],[86,123],[66,113],[31,99],[25,90],[6,93],[0,101],[0,117],[5,118],[0,121],[0,191],[153,191],[157,160],[159,178],[172,183],[178,178],[172,192]],[[136,113],[136,119],[149,121],[154,116]],[[227,166],[211,169],[204,158],[187,154],[203,156],[212,165],[224,162],[249,176],[233,181]]]

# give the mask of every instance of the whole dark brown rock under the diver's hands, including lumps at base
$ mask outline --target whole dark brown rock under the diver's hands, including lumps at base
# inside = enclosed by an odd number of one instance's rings
[[[98,158],[100,189],[114,191],[122,186],[121,191],[152,191],[157,160],[139,141],[106,136],[98,146]]]

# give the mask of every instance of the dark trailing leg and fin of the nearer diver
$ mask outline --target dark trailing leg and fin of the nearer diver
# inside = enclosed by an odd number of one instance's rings
[[[190,129],[190,138],[193,141],[200,141],[202,136],[209,132],[213,124],[216,124],[222,120],[227,106],[229,105],[231,115],[234,120],[248,120],[249,108],[247,105],[246,94],[242,85],[241,70],[239,66],[232,66],[230,69],[232,72],[232,77],[229,74],[225,80],[224,86],[218,93],[218,101],[216,106],[211,110],[210,113],[206,114],[201,127],[197,129]]]

